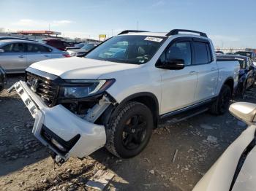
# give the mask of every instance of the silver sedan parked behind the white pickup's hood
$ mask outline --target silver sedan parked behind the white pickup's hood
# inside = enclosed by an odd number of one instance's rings
[[[18,39],[0,40],[0,66],[7,72],[23,73],[32,63],[70,57],[67,52],[47,44]]]

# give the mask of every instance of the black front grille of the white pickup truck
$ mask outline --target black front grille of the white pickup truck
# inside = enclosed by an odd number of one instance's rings
[[[55,106],[59,85],[52,80],[40,77],[36,74],[26,73],[26,82],[34,93],[37,93],[48,106]]]

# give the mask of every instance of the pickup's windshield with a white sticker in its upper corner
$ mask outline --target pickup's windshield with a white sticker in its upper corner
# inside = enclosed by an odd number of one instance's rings
[[[89,52],[86,58],[143,64],[151,60],[165,39],[162,36],[115,36]]]

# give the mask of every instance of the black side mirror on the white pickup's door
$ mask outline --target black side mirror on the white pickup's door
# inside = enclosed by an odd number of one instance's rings
[[[169,70],[181,70],[184,69],[185,62],[183,59],[170,59],[164,63],[157,64],[159,69],[169,69]]]

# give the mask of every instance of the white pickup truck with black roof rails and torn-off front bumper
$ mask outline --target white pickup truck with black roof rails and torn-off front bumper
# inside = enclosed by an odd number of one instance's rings
[[[193,109],[190,117],[206,109],[223,114],[238,71],[238,61],[217,60],[202,32],[123,31],[86,58],[32,64],[10,91],[26,104],[34,136],[57,163],[104,146],[125,158],[146,147],[165,117]]]

